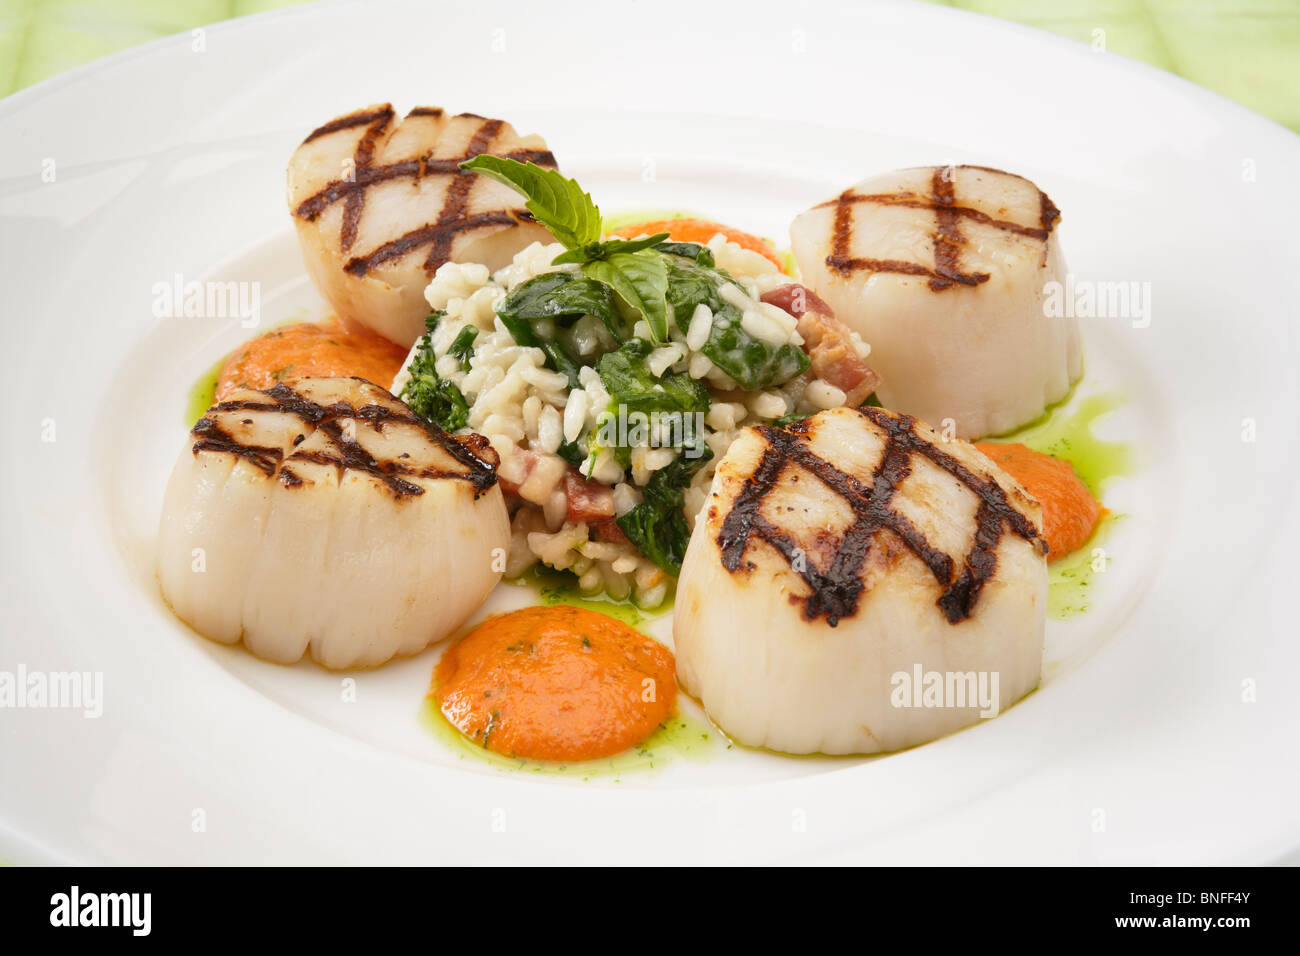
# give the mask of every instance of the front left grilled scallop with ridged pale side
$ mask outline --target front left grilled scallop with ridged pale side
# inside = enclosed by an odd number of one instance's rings
[[[485,440],[428,427],[361,378],[238,392],[199,420],[172,472],[162,596],[199,633],[269,661],[412,654],[500,578],[495,464]]]

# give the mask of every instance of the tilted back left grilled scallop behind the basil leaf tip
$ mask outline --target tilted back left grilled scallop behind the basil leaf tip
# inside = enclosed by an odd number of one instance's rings
[[[458,164],[480,153],[554,168],[541,137],[502,120],[389,104],[325,124],[289,161],[289,208],[307,271],[339,316],[410,347],[424,333],[424,287],[446,261],[508,265],[550,242],[519,195]]]

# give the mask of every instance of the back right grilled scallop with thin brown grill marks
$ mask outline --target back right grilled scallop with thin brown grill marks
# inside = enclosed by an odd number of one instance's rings
[[[859,182],[790,238],[803,282],[871,343],[881,403],[978,438],[1080,375],[1076,321],[1044,313],[1044,286],[1065,281],[1058,217],[1019,176],[926,166]]]

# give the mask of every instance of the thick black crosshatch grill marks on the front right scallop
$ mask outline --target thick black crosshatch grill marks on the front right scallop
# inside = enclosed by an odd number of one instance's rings
[[[957,624],[971,617],[984,584],[997,571],[997,545],[1006,528],[1036,544],[1040,553],[1046,553],[1037,527],[1006,499],[1001,486],[976,476],[950,454],[916,434],[915,419],[907,415],[894,418],[872,407],[855,411],[875,424],[885,438],[870,484],[840,471],[805,445],[807,420],[796,423],[789,429],[772,425],[755,428],[767,447],[732,501],[731,511],[719,529],[716,540],[723,567],[732,574],[751,570],[753,562],[745,559],[750,541],[758,538],[768,544],[809,587],[810,593],[803,598],[805,619],[826,617],[827,623],[835,627],[841,619],[857,613],[866,587],[863,568],[872,541],[878,533],[888,531],[920,559],[942,588],[936,605],[949,624]],[[906,515],[890,506],[898,486],[911,473],[913,455],[928,459],[979,499],[975,535],[959,571],[954,568],[952,555],[931,545]],[[790,464],[815,476],[853,511],[853,522],[841,536],[831,566],[826,570],[812,566],[790,536],[760,511],[763,501]]]

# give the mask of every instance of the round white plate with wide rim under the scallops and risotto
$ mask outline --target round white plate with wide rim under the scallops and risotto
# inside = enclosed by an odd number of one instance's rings
[[[0,103],[0,670],[104,680],[98,719],[0,711],[0,857],[1262,862],[1300,843],[1300,140],[1157,70],[928,5],[599,10],[296,9]],[[355,675],[346,704],[338,675],[172,619],[151,566],[185,393],[248,330],[156,320],[153,285],[260,282],[263,324],[318,311],[285,161],[382,100],[541,131],[607,209],[774,235],[892,166],[1037,181],[1075,273],[1149,282],[1153,303],[1149,328],[1084,323],[1086,388],[1130,394],[1104,431],[1141,467],[1108,492],[1131,519],[1095,607],[1049,623],[1041,689],[885,758],[733,750],[584,783],[424,732],[437,652]]]

